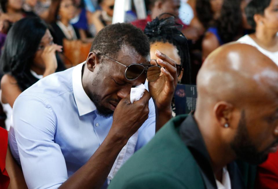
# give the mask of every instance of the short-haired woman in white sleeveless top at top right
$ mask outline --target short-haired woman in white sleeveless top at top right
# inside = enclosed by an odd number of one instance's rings
[[[245,12],[256,31],[238,41],[257,47],[278,65],[278,0],[253,0]]]

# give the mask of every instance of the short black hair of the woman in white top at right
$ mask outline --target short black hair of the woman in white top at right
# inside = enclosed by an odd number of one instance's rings
[[[264,10],[270,5],[271,0],[253,0],[245,8],[245,14],[248,24],[256,29],[256,22],[254,20],[255,14],[264,15]]]

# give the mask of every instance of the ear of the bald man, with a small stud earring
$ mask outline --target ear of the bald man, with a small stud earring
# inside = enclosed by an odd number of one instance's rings
[[[227,124],[228,126],[230,125],[233,109],[233,104],[230,104],[228,102],[221,101],[215,104],[213,109],[214,115],[216,116],[216,119],[221,126],[227,127]]]

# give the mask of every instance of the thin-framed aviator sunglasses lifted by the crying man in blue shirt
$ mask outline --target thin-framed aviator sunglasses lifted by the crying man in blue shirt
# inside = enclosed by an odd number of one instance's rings
[[[146,77],[148,79],[148,81],[152,82],[152,81],[156,81],[159,76],[160,76],[160,66],[154,66],[151,64],[131,64],[129,66],[126,66],[120,62],[118,62],[117,60],[114,60],[113,58],[110,58],[109,56],[106,56],[105,54],[100,54],[103,55],[113,61],[115,61],[116,63],[125,66],[125,78],[127,80],[136,80],[137,78],[139,78],[139,76],[141,76],[141,74],[145,71]]]

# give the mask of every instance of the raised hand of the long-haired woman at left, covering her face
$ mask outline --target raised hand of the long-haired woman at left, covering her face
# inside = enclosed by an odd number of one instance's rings
[[[43,73],[43,77],[53,74],[57,69],[57,59],[56,59],[56,51],[62,52],[63,46],[52,44],[48,45],[43,49],[43,53],[41,54],[41,58],[45,64],[45,72]]]

